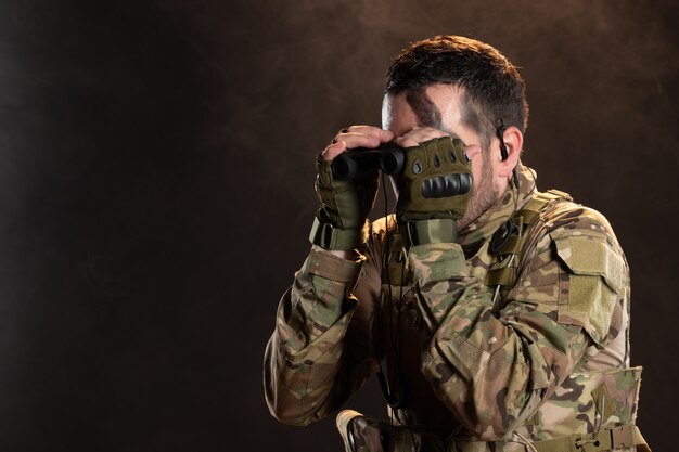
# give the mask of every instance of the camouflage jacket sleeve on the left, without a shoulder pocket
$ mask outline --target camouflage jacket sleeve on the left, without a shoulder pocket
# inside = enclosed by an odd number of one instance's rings
[[[359,274],[362,286],[375,283],[364,260],[342,259],[315,246],[283,295],[264,373],[267,404],[279,421],[307,425],[325,417],[370,375],[371,300],[361,300],[359,309],[353,295]],[[363,287],[367,297],[376,294],[376,289]]]

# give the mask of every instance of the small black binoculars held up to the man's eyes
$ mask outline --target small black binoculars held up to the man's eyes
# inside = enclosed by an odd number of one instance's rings
[[[382,169],[385,175],[400,175],[406,166],[406,153],[394,144],[382,144],[374,150],[357,147],[335,157],[332,173],[341,180],[356,180]]]

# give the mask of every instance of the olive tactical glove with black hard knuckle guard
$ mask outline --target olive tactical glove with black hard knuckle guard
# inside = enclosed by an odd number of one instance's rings
[[[440,137],[405,152],[396,212],[411,244],[454,242],[456,220],[466,211],[472,191],[472,167],[464,143]]]

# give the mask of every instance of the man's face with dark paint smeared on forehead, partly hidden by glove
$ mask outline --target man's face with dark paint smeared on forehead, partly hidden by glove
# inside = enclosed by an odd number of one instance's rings
[[[382,104],[382,128],[394,133],[394,138],[413,133],[414,127],[430,127],[440,129],[453,138],[460,138],[467,146],[474,185],[466,214],[458,221],[459,229],[466,227],[490,208],[500,196],[499,186],[496,186],[497,164],[495,158],[491,158],[495,153],[489,150],[482,151],[482,139],[478,133],[462,122],[463,108],[461,89],[443,83],[432,85],[417,94],[412,92],[401,92],[395,96],[387,94]],[[422,132],[419,137],[422,137]],[[491,150],[497,146],[496,141],[491,142]]]

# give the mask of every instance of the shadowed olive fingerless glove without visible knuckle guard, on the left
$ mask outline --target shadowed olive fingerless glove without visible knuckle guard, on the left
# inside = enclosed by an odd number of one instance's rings
[[[366,242],[366,220],[377,195],[377,171],[361,179],[335,179],[331,162],[316,158],[316,193],[321,202],[309,240],[325,249],[350,250]]]

